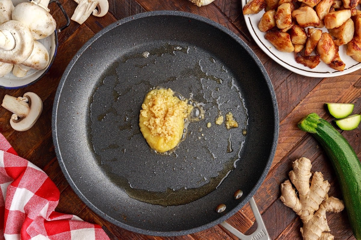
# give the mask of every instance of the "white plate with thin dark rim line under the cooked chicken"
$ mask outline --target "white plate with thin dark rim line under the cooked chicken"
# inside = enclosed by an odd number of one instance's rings
[[[244,6],[248,0],[242,0],[242,6]],[[246,22],[248,31],[251,33],[253,40],[255,40],[256,44],[265,52],[270,58],[272,58],[275,62],[280,64],[282,67],[287,68],[288,70],[295,72],[297,74],[308,76],[308,77],[335,77],[341,76],[344,74],[348,74],[354,72],[361,68],[361,63],[353,60],[350,56],[346,55],[346,46],[342,45],[339,49],[339,55],[341,60],[346,64],[344,71],[336,71],[327,65],[326,63],[319,63],[317,67],[311,69],[309,67],[305,67],[303,64],[297,63],[295,56],[293,53],[283,53],[275,49],[275,47],[265,39],[265,33],[261,32],[258,29],[258,23],[262,15],[265,13],[264,10],[257,14],[249,14],[244,15],[244,20]],[[326,28],[321,28],[322,32],[327,32]],[[312,53],[311,55],[315,55],[316,53]]]

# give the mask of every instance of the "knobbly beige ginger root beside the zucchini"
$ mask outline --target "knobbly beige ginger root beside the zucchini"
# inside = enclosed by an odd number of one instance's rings
[[[311,161],[308,158],[296,159],[289,173],[293,185],[298,191],[297,197],[291,182],[281,184],[281,201],[300,216],[304,240],[333,240],[327,225],[326,212],[340,212],[344,209],[343,201],[327,195],[330,184],[323,180],[321,172],[311,174]],[[310,178],[312,176],[312,180]]]

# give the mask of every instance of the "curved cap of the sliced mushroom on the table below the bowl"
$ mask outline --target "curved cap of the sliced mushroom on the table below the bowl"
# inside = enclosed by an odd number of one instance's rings
[[[34,92],[26,92],[24,97],[29,99],[29,114],[18,120],[10,119],[11,127],[16,131],[26,131],[34,126],[43,111],[43,101]]]

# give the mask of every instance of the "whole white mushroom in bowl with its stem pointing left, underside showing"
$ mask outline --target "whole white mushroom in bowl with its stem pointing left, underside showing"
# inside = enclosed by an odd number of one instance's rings
[[[10,20],[0,24],[0,62],[19,64],[29,58],[34,39],[21,22]]]

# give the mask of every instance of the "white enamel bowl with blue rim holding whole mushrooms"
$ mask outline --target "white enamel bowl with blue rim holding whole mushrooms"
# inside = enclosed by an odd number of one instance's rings
[[[25,2],[26,0],[12,0],[14,6],[19,3]],[[44,47],[48,50],[49,53],[49,64],[46,68],[42,70],[30,69],[25,77],[16,77],[12,72],[6,74],[4,77],[0,77],[0,87],[6,89],[18,89],[21,87],[29,86],[30,84],[36,82],[43,76],[45,72],[49,70],[49,67],[53,61],[53,56],[56,54],[56,40],[55,32],[52,35],[45,37],[44,39],[36,40],[41,42]]]

